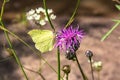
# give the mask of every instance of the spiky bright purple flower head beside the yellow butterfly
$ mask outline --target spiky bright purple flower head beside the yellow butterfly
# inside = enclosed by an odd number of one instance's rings
[[[80,30],[79,27],[73,28],[71,25],[57,33],[56,46],[64,50],[67,56],[70,56],[79,48],[83,36],[83,30]]]

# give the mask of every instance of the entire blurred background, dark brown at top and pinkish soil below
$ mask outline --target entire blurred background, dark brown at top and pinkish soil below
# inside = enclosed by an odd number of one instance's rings
[[[3,0],[0,0],[0,10],[2,2]],[[76,3],[77,0],[47,0],[47,7],[53,9],[54,14],[57,16],[56,20],[52,21],[57,30],[61,29],[67,23]],[[95,61],[100,60],[103,62],[103,69],[100,72],[101,80],[120,80],[120,27],[117,27],[104,42],[100,41],[102,36],[115,24],[112,19],[119,19],[119,11],[116,9],[115,4],[119,4],[119,0],[80,0],[73,24],[79,24],[80,28],[86,32],[86,36],[77,54],[90,80],[90,68],[87,58],[84,55],[86,50],[93,51],[93,59]],[[14,32],[33,48],[34,43],[27,32],[38,27],[29,24],[24,18],[26,17],[26,12],[41,6],[43,7],[42,0],[10,0],[5,5],[3,15],[3,22],[6,28]],[[51,29],[49,23],[42,28]],[[11,35],[9,36],[17,55],[23,66],[25,66],[29,80],[57,79],[57,74],[43,60],[33,54],[34,52],[19,40]],[[23,74],[13,57],[8,58],[10,54],[6,48],[9,47],[3,31],[0,30],[0,80],[24,80]],[[42,56],[57,70],[56,49],[42,54]],[[6,58],[8,59],[4,60]],[[77,64],[73,61],[68,61],[64,53],[61,54],[61,64],[61,67],[65,64],[71,66],[69,80],[80,80],[82,78],[79,74]],[[42,66],[41,74],[45,79],[36,73],[40,66]],[[96,74],[95,80],[97,80]]]

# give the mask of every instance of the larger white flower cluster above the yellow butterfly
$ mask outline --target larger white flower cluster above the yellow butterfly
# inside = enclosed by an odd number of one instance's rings
[[[52,20],[56,18],[56,16],[53,14],[52,9],[48,9],[48,15]],[[46,21],[48,21],[45,9],[43,9],[42,7],[39,7],[35,10],[31,9],[29,12],[27,12],[26,16],[29,21],[35,21],[42,26],[46,24]]]

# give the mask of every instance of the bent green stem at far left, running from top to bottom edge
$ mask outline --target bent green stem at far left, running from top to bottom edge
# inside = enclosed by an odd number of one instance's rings
[[[4,12],[5,3],[6,3],[6,1],[4,0],[4,2],[2,4],[1,14],[0,14],[0,25],[2,25],[3,28],[5,28],[4,24],[2,22],[2,16],[3,16],[3,12]],[[25,71],[24,71],[24,69],[22,67],[22,64],[21,64],[19,58],[17,57],[15,50],[13,49],[13,46],[12,46],[12,43],[11,43],[10,38],[8,36],[8,33],[6,31],[4,31],[4,34],[5,34],[5,37],[7,39],[8,44],[9,44],[9,47],[12,49],[12,53],[13,53],[13,56],[14,56],[16,62],[20,66],[20,68],[21,68],[21,70],[22,70],[22,72],[24,74],[24,77],[26,78],[26,80],[28,80],[28,77],[27,77],[27,75],[26,75],[26,73],[25,73]]]

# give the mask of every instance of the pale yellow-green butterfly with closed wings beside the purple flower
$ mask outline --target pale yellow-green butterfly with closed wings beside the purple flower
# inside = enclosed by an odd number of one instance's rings
[[[35,47],[40,52],[47,52],[53,49],[53,32],[50,30],[31,30],[28,32],[31,36]]]

